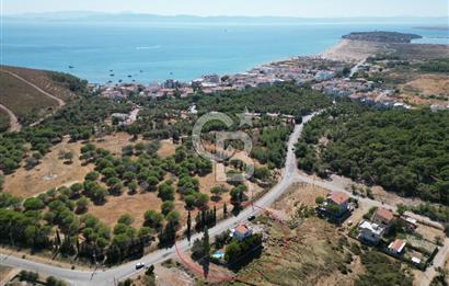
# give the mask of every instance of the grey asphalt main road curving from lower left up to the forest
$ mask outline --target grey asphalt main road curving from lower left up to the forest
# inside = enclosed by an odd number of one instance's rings
[[[298,180],[298,169],[293,148],[295,144],[298,140],[298,137],[301,135],[303,124],[309,122],[312,117],[313,115],[304,116],[302,123],[295,126],[295,130],[291,134],[288,141],[286,165],[281,172],[283,175],[280,182],[276,186],[274,186],[268,193],[266,193],[262,198],[255,202],[253,206],[249,206],[245,209],[243,209],[239,214],[239,216],[230,217],[226,220],[222,220],[218,222],[214,228],[209,229],[210,237],[219,234],[234,227],[237,224],[244,221],[247,217],[252,215],[257,215],[263,210],[264,207],[268,207],[269,205],[272,205],[276,201],[276,198],[278,198],[293,182]],[[192,237],[192,241],[200,237],[202,234],[195,234]],[[175,255],[177,255],[176,248],[177,251],[182,253],[189,249],[189,243],[186,239],[184,239],[177,241],[176,247],[151,252],[138,261],[128,262],[119,266],[104,271],[97,270],[95,272],[68,270],[15,256],[8,256],[4,254],[0,254],[0,264],[59,277],[67,281],[70,285],[110,286],[115,285],[118,281],[123,281],[133,275],[136,275],[139,272],[143,272],[145,270],[136,271],[136,263],[142,262],[146,265],[149,265],[163,262],[170,258],[174,258]]]

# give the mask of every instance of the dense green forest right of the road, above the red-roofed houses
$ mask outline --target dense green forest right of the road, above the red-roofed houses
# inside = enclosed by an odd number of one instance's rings
[[[449,204],[449,112],[342,102],[304,126],[298,165]]]

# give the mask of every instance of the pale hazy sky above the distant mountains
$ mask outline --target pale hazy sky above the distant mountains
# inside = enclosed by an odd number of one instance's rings
[[[3,15],[57,11],[202,16],[448,16],[447,0],[0,0]]]

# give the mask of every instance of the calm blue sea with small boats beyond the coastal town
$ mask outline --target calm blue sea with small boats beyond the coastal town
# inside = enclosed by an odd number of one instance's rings
[[[414,26],[7,21],[1,27],[1,64],[71,72],[94,83],[149,83],[242,72],[291,56],[315,55],[355,31],[415,33],[425,37],[418,43],[449,44],[448,31]]]

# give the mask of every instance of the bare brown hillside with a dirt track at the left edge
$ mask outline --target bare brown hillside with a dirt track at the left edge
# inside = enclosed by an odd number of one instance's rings
[[[76,96],[66,77],[51,71],[1,66],[0,104],[14,113],[20,124],[34,123]],[[8,114],[2,110],[2,123],[4,116]]]

